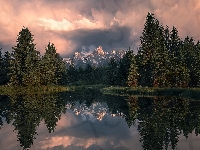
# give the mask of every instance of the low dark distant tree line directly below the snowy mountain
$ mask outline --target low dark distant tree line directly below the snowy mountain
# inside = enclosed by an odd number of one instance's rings
[[[127,77],[133,50],[126,51],[123,58],[116,60],[111,58],[108,66],[92,66],[87,64],[85,68],[76,68],[71,64],[67,69],[68,83],[82,84],[104,84],[115,86],[127,86]]]

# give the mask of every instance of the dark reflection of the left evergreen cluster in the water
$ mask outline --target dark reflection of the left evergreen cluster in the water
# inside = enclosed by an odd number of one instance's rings
[[[36,128],[42,120],[51,133],[61,114],[66,111],[58,94],[1,96],[0,102],[1,116],[6,118],[7,123],[14,120],[12,125],[18,132],[18,141],[24,149],[30,148],[33,144],[37,134]]]

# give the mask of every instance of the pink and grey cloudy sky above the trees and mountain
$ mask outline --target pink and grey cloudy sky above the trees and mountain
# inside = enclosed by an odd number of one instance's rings
[[[0,48],[13,51],[23,26],[41,55],[48,42],[63,58],[102,46],[137,52],[148,12],[179,36],[200,39],[198,0],[0,0]]]

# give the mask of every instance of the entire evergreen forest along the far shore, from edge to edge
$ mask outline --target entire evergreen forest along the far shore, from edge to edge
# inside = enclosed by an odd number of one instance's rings
[[[148,13],[135,55],[129,47],[120,60],[108,66],[75,68],[65,62],[55,45],[48,43],[44,56],[36,50],[33,35],[23,28],[12,52],[0,50],[0,85],[96,85],[129,87],[199,87],[200,41],[181,39],[173,26],[164,27]]]

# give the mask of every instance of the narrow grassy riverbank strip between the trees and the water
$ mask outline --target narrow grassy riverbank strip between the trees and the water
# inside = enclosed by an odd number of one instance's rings
[[[66,91],[85,92],[88,90],[100,90],[103,94],[112,95],[143,95],[143,96],[178,96],[185,98],[200,99],[200,88],[154,88],[154,87],[120,87],[100,85],[68,85],[68,86],[0,86],[0,95],[10,94],[34,94],[34,93],[56,93]]]

